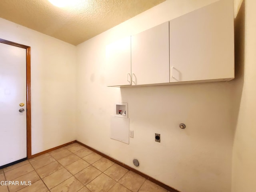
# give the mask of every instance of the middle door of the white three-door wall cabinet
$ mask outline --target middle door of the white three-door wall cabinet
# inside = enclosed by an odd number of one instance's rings
[[[132,85],[169,82],[169,22],[132,36]]]

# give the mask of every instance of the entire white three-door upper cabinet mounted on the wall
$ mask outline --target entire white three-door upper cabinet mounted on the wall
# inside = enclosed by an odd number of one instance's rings
[[[233,1],[219,0],[107,45],[106,68],[108,86],[232,80]]]

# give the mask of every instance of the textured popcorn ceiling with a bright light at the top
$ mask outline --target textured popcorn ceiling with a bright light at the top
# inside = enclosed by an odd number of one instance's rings
[[[0,17],[77,45],[164,1],[79,0],[58,8],[48,0],[0,0]]]

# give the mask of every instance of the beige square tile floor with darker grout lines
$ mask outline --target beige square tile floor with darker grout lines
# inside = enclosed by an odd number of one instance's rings
[[[0,181],[19,182],[0,192],[168,192],[77,143],[1,169]]]

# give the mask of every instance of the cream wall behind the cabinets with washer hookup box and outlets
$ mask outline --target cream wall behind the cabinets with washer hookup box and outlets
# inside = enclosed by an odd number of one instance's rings
[[[110,88],[104,78],[106,44],[212,2],[167,0],[77,46],[77,140],[131,167],[137,158],[134,168],[182,192],[231,191],[232,82]],[[128,102],[129,145],[110,139],[115,102]]]

